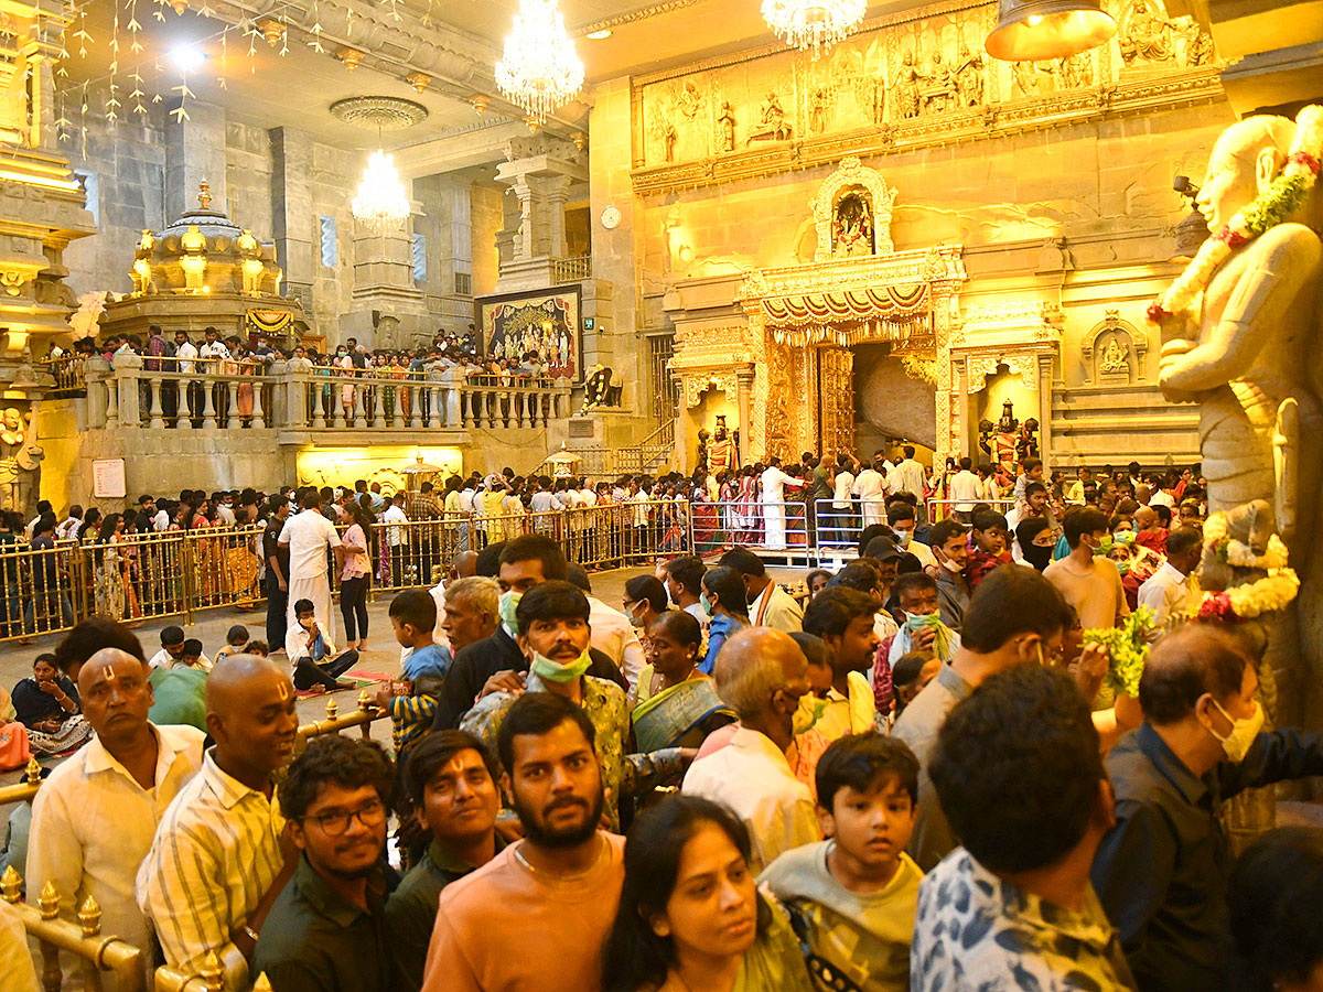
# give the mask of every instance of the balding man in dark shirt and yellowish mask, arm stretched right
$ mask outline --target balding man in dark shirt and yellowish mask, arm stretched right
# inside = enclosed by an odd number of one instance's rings
[[[1261,733],[1258,676],[1230,631],[1189,624],[1154,645],[1144,722],[1107,755],[1117,825],[1093,884],[1142,992],[1221,987],[1232,856],[1221,804],[1246,788],[1323,775],[1323,734]]]

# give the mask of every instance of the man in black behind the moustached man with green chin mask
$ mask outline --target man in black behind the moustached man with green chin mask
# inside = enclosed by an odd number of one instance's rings
[[[528,672],[528,659],[515,641],[515,608],[520,597],[542,582],[565,579],[565,554],[560,545],[542,534],[523,534],[501,546],[500,573],[500,626],[496,632],[475,644],[460,648],[446,676],[437,698],[435,730],[459,726],[479,694],[495,689],[523,689],[523,676]],[[624,688],[624,677],[610,657],[595,648],[589,652],[593,667],[589,675]]]

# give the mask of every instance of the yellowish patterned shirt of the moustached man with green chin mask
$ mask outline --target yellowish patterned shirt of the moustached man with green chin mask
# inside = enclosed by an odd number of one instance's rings
[[[546,692],[542,680],[528,676],[528,692]],[[620,829],[620,796],[638,796],[668,779],[679,779],[683,770],[679,747],[663,747],[651,754],[630,754],[630,706],[624,690],[615,682],[586,675],[582,681],[583,701],[579,704],[597,731],[597,757],[602,763],[602,784],[607,790],[606,815],[611,829]],[[496,754],[496,734],[505,713],[517,697],[508,692],[493,692],[478,701],[463,721],[460,730],[483,741]]]

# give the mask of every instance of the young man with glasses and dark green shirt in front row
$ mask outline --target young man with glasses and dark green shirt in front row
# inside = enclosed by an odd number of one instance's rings
[[[303,852],[271,906],[254,973],[280,992],[389,992],[386,845],[390,761],[376,741],[319,737],[290,766],[280,808]]]

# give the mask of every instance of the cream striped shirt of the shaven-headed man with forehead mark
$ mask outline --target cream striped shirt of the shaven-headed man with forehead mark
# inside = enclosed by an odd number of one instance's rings
[[[167,964],[197,971],[206,952],[216,951],[232,984],[246,980],[230,931],[247,921],[280,873],[283,831],[275,795],[267,799],[221,771],[208,751],[165,809],[138,869],[138,905]]]

